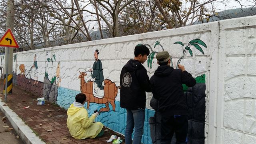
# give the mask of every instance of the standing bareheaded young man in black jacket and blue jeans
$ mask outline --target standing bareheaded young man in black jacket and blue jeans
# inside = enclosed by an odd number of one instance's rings
[[[150,80],[142,64],[147,60],[149,49],[138,44],[134,49],[134,60],[129,60],[120,74],[120,106],[126,108],[127,121],[125,143],[140,144],[144,132],[146,92],[151,92]]]

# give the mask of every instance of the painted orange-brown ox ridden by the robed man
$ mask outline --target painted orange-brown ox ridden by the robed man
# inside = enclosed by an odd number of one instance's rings
[[[80,72],[80,71],[79,71]],[[86,100],[87,100],[87,109],[89,109],[90,102],[94,102],[97,104],[105,104],[105,108],[100,108],[100,112],[108,112],[109,109],[109,104],[112,105],[113,111],[116,109],[116,104],[115,104],[115,98],[117,96],[117,90],[119,87],[116,86],[114,82],[111,80],[104,80],[104,97],[103,98],[97,98],[93,96],[93,82],[85,82],[84,77],[87,74],[85,72],[80,72],[80,76],[78,78],[81,79],[81,86],[80,90],[82,93],[86,95]]]

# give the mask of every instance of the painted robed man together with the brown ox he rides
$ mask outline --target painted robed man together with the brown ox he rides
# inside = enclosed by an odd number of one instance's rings
[[[90,70],[80,72],[80,90],[86,95],[87,109],[90,103],[105,104],[106,107],[100,108],[99,113],[108,112],[111,104],[113,111],[116,109],[115,98],[118,88],[114,82],[105,79],[103,76],[102,62],[98,59],[99,51],[94,51],[95,62]]]

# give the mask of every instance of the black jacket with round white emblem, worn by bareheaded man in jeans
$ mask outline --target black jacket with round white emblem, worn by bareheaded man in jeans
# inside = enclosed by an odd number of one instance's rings
[[[146,92],[151,92],[147,70],[138,60],[129,60],[120,74],[120,106],[126,109],[146,107]]]

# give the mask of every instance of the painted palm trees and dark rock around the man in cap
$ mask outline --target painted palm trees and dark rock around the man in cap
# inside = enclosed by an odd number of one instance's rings
[[[175,42],[174,44],[180,44],[182,47],[184,47],[184,44],[182,42]],[[205,48],[207,48],[206,44],[200,40],[195,39],[191,40],[188,45],[185,46],[185,48],[182,50],[182,57],[178,60],[176,64],[176,68],[178,68],[178,64],[180,64],[181,60],[184,58],[186,51],[190,53],[191,56],[193,56],[193,52],[190,49],[190,46],[194,46],[197,50],[199,50],[202,54],[204,54],[204,51],[202,48],[198,45],[202,45]],[[148,46],[152,53],[148,56],[148,67],[150,64],[150,69],[152,60],[154,59],[154,55],[158,52],[155,52],[152,50],[151,46],[148,44],[145,44]],[[156,41],[156,44],[154,45],[154,48],[160,45],[162,50],[164,50],[163,46],[160,44],[160,42]],[[171,66],[173,67],[172,59],[171,59]],[[188,144],[204,144],[204,125],[205,125],[205,90],[206,90],[206,84],[205,84],[205,78],[206,74],[202,74],[200,76],[197,76],[196,79],[196,85],[192,88],[188,88],[185,84],[183,84],[183,90],[184,90],[184,96],[186,96],[187,105],[188,105]],[[156,110],[154,117],[150,117],[149,123],[150,123],[150,136],[152,138],[152,143],[156,144],[160,142],[160,127],[161,127],[161,115],[158,112],[158,105],[157,100],[152,98],[150,100],[150,106]],[[175,142],[175,138],[172,140],[172,142]]]

